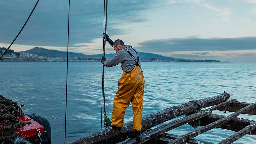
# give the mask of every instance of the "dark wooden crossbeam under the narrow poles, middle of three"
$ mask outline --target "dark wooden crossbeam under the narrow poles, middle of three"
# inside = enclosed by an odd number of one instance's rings
[[[202,124],[202,126],[205,126],[207,124],[211,124],[211,123],[213,123],[213,122],[215,122],[215,121],[217,121],[221,118],[224,118],[224,117],[225,116],[216,115],[216,114],[211,114],[211,115],[208,115],[208,116],[204,116],[204,117],[201,118],[201,124]],[[238,131],[245,128],[247,125],[249,125],[252,122],[256,122],[256,121],[236,117],[236,118],[228,121],[227,123],[218,126],[218,128],[238,132]],[[250,132],[248,134],[256,135],[256,130],[254,129],[252,132]]]

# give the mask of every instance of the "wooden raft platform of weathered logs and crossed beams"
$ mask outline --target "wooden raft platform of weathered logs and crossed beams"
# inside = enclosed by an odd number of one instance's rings
[[[124,144],[209,144],[208,142],[193,140],[193,138],[217,127],[236,132],[227,139],[220,141],[219,144],[232,143],[246,134],[256,135],[256,121],[236,118],[241,114],[256,115],[256,102],[238,102],[236,99],[228,100],[229,97],[230,95],[227,92],[224,92],[214,97],[193,100],[145,116],[142,118],[141,124],[141,131],[144,132],[143,138],[139,142],[134,138],[135,133],[132,132],[133,121],[131,121],[124,124],[119,131],[111,128],[72,141],[69,144],[114,144],[127,140],[128,138],[130,139],[125,141]],[[206,109],[201,110],[201,108]],[[214,115],[212,114],[213,110],[229,111],[233,113],[228,116]],[[150,129],[158,124],[182,115],[185,116],[157,128]],[[197,121],[199,121],[203,127],[182,136],[165,133],[187,123],[194,125],[196,128]]]

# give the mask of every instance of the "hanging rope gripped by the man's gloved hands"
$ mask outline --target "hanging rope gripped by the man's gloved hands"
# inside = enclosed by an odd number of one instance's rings
[[[106,0],[106,18],[105,19],[105,33],[107,33],[107,15],[108,15],[108,0]],[[105,16],[105,0],[104,0],[104,16]],[[104,31],[104,27],[103,27]],[[104,45],[103,45],[103,57],[105,57],[105,50],[106,50],[106,37],[104,39]],[[105,86],[104,86],[104,65],[102,64],[102,91],[101,91],[101,128],[102,130],[102,98],[104,103],[104,130],[109,128],[109,124],[111,123],[111,120],[107,117],[106,114],[106,105],[105,105]]]

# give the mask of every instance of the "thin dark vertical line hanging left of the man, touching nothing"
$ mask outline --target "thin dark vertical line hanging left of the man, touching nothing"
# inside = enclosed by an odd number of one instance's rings
[[[69,42],[69,8],[70,8],[70,0],[68,0],[68,42]],[[64,138],[64,143],[66,143],[67,97],[68,97],[68,50],[67,50],[66,103],[65,103],[66,108],[65,108],[65,135],[64,135],[65,138]]]

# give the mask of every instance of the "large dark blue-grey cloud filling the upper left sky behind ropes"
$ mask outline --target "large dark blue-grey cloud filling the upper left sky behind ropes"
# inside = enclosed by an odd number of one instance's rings
[[[35,1],[0,1],[0,43],[11,43],[31,12]],[[103,1],[76,0],[70,3],[69,44],[92,43],[102,37]],[[108,3],[108,27],[112,35],[127,33],[116,26],[147,21],[140,14],[154,8],[151,0],[112,0]],[[16,44],[66,46],[68,1],[39,1]]]

